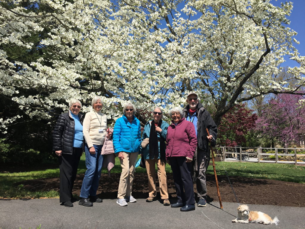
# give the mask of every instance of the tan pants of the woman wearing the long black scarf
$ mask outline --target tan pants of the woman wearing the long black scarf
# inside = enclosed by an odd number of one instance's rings
[[[146,159],[146,171],[148,176],[148,191],[149,197],[156,197],[156,169],[155,165],[157,164],[158,168],[158,178],[160,186],[160,195],[161,199],[168,199],[168,190],[167,190],[167,176],[165,172],[165,164],[161,165],[160,159]]]

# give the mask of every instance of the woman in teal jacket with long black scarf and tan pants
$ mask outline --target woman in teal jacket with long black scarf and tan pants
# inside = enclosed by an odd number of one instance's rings
[[[163,199],[163,205],[168,206],[167,177],[165,172],[165,140],[168,123],[162,120],[163,112],[161,107],[156,107],[152,112],[153,120],[146,123],[142,134],[142,145],[140,152],[145,158],[145,166],[148,176],[149,197],[146,202],[156,200],[156,171],[158,168],[158,178],[160,186],[160,196]],[[149,141],[148,144],[145,142]]]

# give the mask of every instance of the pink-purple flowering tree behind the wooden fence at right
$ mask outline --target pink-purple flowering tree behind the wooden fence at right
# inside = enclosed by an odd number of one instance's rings
[[[305,133],[305,107],[300,104],[303,99],[301,95],[291,94],[280,94],[271,99],[257,119],[256,130],[285,148],[298,141]]]

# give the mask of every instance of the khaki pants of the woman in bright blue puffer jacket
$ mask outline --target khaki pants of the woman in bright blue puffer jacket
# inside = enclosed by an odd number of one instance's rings
[[[123,199],[125,196],[131,196],[132,182],[135,177],[135,161],[138,158],[138,152],[123,152],[124,159],[120,159],[122,173],[120,177],[119,190],[117,198]]]

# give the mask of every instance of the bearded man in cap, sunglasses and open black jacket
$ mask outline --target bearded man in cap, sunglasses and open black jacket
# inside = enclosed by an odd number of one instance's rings
[[[197,149],[193,157],[195,170],[194,182],[196,181],[197,195],[199,197],[198,207],[206,206],[206,169],[210,162],[211,145],[216,144],[217,126],[210,113],[199,103],[196,93],[189,93],[186,99],[188,105],[183,110],[184,118],[194,124],[197,135]],[[206,131],[209,131],[209,135]]]

